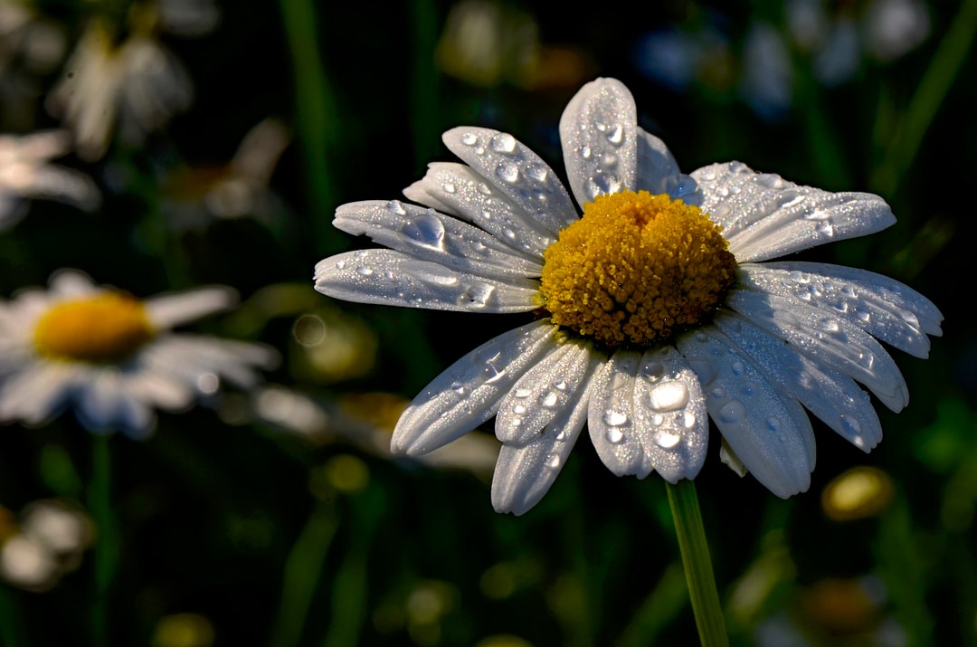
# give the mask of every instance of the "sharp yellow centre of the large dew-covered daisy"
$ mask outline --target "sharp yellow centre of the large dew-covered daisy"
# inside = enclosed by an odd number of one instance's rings
[[[719,305],[736,271],[728,246],[682,200],[598,195],[543,254],[543,307],[554,324],[608,348],[651,346]]]

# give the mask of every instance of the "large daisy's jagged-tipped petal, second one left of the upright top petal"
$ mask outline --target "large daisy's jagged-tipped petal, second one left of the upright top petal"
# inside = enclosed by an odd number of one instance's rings
[[[531,259],[540,259],[556,237],[498,188],[463,164],[434,163],[404,195],[472,222]],[[575,217],[575,214],[574,214]]]

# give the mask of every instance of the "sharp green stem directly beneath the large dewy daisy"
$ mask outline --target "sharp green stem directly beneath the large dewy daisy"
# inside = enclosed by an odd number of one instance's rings
[[[685,579],[689,584],[689,597],[692,599],[692,611],[696,615],[702,647],[729,645],[719,593],[712,575],[709,544],[702,528],[696,484],[687,479],[675,485],[666,481],[665,488],[672,519],[675,520],[675,534],[682,551]]]

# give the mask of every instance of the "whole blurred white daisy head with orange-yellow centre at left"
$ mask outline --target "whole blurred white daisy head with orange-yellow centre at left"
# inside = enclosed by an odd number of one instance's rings
[[[242,388],[272,367],[264,346],[171,328],[234,303],[227,287],[145,301],[75,271],[48,290],[0,303],[0,421],[41,424],[65,407],[87,429],[149,436],[154,408],[187,410],[227,380]]]

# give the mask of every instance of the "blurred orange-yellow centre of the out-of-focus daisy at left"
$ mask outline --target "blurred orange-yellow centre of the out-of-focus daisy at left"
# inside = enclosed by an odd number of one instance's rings
[[[58,304],[34,328],[42,355],[83,362],[124,360],[155,336],[142,301],[117,292]]]

